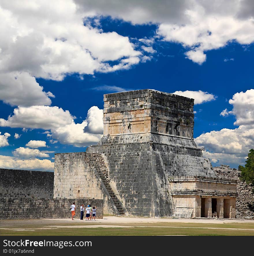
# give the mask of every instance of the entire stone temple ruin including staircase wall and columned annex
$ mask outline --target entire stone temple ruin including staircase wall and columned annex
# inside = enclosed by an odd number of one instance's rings
[[[54,198],[104,199],[104,214],[235,218],[236,180],[195,144],[193,105],[150,89],[105,94],[98,144],[55,154]]]

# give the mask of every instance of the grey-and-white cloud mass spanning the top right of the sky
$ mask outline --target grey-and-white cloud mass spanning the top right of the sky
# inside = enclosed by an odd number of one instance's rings
[[[132,24],[158,24],[156,36],[182,44],[187,57],[198,64],[206,61],[206,51],[224,47],[233,40],[240,44],[254,40],[254,3],[249,0],[75,2],[91,16],[110,15]],[[147,38],[140,41],[149,43]]]

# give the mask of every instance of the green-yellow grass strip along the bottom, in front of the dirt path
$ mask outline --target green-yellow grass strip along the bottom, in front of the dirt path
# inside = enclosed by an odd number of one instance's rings
[[[72,226],[70,223],[51,223],[48,225],[4,225],[5,228],[1,229],[0,234],[3,235],[254,235],[253,223],[180,223],[180,222],[159,222],[159,223],[100,223],[94,222],[78,222],[75,221],[73,225],[83,226],[83,228],[69,228]],[[68,226],[68,228],[57,229],[36,229],[41,227],[50,226]],[[126,228],[86,228],[86,225],[117,225],[126,226]],[[130,227],[130,226],[149,226],[149,227]],[[2,226],[3,227],[3,226]],[[184,227],[184,228],[177,228]],[[192,228],[193,227],[193,228]],[[235,228],[242,230],[232,229],[204,229],[204,228]],[[12,229],[33,229],[34,231],[14,231]]]

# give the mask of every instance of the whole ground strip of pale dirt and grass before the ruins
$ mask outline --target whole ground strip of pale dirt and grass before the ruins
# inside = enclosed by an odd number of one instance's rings
[[[254,235],[254,220],[104,216],[103,219],[1,220],[5,235]],[[90,231],[88,231],[88,229]]]

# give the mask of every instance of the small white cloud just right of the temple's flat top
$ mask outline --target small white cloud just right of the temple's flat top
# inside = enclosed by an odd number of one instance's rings
[[[201,104],[207,101],[215,100],[216,97],[208,92],[199,91],[175,91],[173,94],[194,99],[194,104]]]

